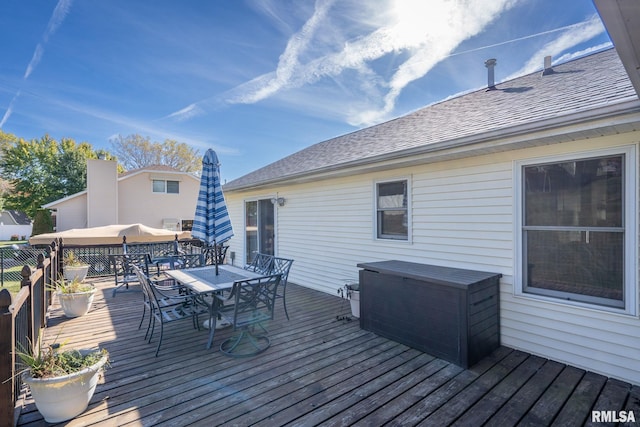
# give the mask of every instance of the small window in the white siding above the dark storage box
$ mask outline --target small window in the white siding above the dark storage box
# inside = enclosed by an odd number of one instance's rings
[[[408,181],[376,183],[376,236],[378,239],[408,240]]]

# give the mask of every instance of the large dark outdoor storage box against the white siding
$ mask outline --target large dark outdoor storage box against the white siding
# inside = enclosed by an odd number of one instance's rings
[[[358,267],[362,329],[463,368],[500,346],[501,274],[404,261]]]

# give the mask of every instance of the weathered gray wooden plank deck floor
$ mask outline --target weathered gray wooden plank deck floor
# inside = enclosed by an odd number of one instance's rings
[[[265,353],[216,351],[230,329],[206,350],[207,332],[185,321],[167,326],[156,358],[138,330],[141,294],[97,285],[88,315],[66,319],[54,306],[46,331],[111,355],[89,408],[65,425],[571,426],[589,424],[592,410],[640,421],[638,386],[506,347],[464,370],[361,330],[344,320],[348,301],[293,284],[291,321],[278,301]],[[32,401],[19,425],[45,425]]]

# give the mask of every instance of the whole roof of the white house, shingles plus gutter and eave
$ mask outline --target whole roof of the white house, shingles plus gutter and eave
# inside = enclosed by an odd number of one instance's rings
[[[483,64],[478,68],[484,69]],[[314,144],[227,183],[224,190],[307,182],[636,129],[640,101],[616,51],[608,49],[554,65],[545,75],[532,73]]]

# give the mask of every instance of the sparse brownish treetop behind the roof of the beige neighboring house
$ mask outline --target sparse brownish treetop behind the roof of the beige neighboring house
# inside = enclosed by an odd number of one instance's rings
[[[138,134],[110,140],[113,154],[125,170],[165,165],[182,172],[196,172],[202,168],[202,157],[197,149],[183,142],[166,139],[151,142]]]

